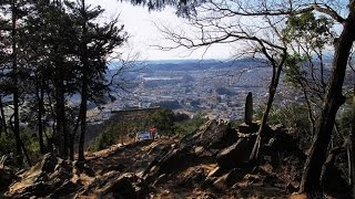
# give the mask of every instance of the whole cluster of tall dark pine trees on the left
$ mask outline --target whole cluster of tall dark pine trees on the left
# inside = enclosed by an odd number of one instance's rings
[[[128,39],[116,19],[98,23],[103,11],[84,0],[0,2],[0,136],[16,140],[19,166],[31,165],[26,128],[41,154],[62,158],[74,159],[79,136],[84,159],[88,103],[104,103],[109,57]]]

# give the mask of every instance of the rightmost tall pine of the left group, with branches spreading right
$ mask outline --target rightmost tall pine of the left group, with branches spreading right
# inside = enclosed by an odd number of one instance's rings
[[[67,6],[71,9],[72,18],[78,27],[75,35],[79,60],[77,74],[79,74],[79,93],[81,95],[79,160],[84,160],[88,102],[95,103],[110,91],[104,77],[108,70],[106,59],[115,48],[126,40],[126,33],[123,32],[123,25],[116,25],[116,20],[104,25],[94,22],[103,10],[100,8],[91,9],[84,0],[78,3],[67,3]]]

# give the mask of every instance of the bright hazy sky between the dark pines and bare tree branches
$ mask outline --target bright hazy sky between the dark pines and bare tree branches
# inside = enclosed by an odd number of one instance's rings
[[[189,27],[184,24],[184,19],[178,18],[173,8],[166,8],[161,12],[149,12],[148,8],[133,7],[119,0],[87,0],[87,3],[92,6],[99,3],[101,8],[105,9],[105,14],[100,19],[102,22],[120,15],[120,22],[124,24],[126,32],[131,35],[129,44],[120,49],[124,53],[139,53],[139,60],[202,59],[204,49],[191,54],[186,49],[161,51],[156,46],[166,46],[171,44],[163,39],[154,23],[169,25],[170,28],[183,27],[185,32],[189,33]],[[210,48],[203,57],[227,59],[230,51],[230,46],[220,44]]]

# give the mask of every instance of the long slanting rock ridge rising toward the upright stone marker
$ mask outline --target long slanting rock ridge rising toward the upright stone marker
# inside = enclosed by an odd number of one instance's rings
[[[162,154],[144,171],[148,181],[154,181],[162,174],[183,169],[195,161],[215,161],[215,156],[237,140],[237,132],[230,124],[210,121],[200,129],[182,138],[179,145]]]

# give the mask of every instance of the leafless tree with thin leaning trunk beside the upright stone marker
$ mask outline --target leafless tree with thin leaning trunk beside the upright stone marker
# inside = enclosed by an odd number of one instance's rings
[[[207,1],[196,9],[195,15],[190,15],[189,25],[193,27],[196,35],[187,35],[181,30],[160,27],[165,39],[175,45],[162,46],[163,50],[186,48],[194,51],[217,43],[235,44],[240,49],[234,55],[240,57],[263,57],[265,64],[272,67],[268,85],[268,100],[262,117],[257,138],[250,156],[255,160],[262,140],[262,132],[266,126],[280,75],[287,57],[286,43],[283,40],[282,27],[285,23],[287,9],[282,7],[277,12],[273,8],[280,4],[267,1],[247,3],[242,1]],[[277,14],[276,14],[277,13]]]

